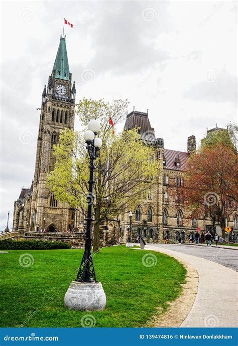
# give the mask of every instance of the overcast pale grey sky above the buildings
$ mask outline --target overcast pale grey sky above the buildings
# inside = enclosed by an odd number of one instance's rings
[[[184,151],[206,127],[237,121],[236,2],[2,2],[1,220],[34,176],[41,94],[63,19],[80,98],[128,98],[156,137]],[[76,120],[76,128],[79,127]]]

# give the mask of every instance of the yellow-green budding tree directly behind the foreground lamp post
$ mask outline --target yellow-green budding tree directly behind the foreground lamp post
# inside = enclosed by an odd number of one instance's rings
[[[152,159],[154,149],[140,139],[138,129],[113,134],[115,124],[125,119],[127,100],[105,103],[83,99],[77,113],[82,130],[64,130],[55,146],[56,163],[48,186],[57,199],[85,215],[89,178],[89,157],[83,133],[90,119],[101,124],[98,136],[103,145],[95,160],[93,251],[99,248],[99,226],[104,219],[117,217],[125,208],[138,204],[144,192],[157,182],[161,163]]]

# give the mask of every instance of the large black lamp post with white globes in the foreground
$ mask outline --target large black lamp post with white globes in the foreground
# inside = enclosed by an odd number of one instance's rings
[[[92,231],[92,222],[94,219],[92,218],[92,205],[93,205],[93,184],[95,183],[93,180],[94,169],[96,168],[94,165],[94,160],[99,154],[100,147],[102,145],[102,140],[95,135],[100,130],[100,123],[97,120],[90,120],[88,123],[88,130],[84,133],[84,139],[87,143],[87,150],[90,158],[89,165],[89,189],[87,196],[87,217],[86,217],[86,239],[85,239],[85,249],[83,258],[78,270],[76,281],[78,282],[97,282],[96,273],[93,265],[92,255],[91,255],[91,231]]]

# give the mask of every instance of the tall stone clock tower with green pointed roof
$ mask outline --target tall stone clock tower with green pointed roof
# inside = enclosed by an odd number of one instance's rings
[[[58,52],[48,85],[42,94],[36,165],[33,183],[30,230],[66,232],[74,224],[74,211],[58,201],[46,186],[54,169],[54,144],[61,130],[74,129],[75,82],[69,72],[65,36],[60,37]]]

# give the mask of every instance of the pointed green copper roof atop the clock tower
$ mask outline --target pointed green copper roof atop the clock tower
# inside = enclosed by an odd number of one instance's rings
[[[60,44],[55,58],[53,70],[56,71],[56,78],[69,80],[69,63],[65,44],[65,37],[62,36],[60,37]]]

